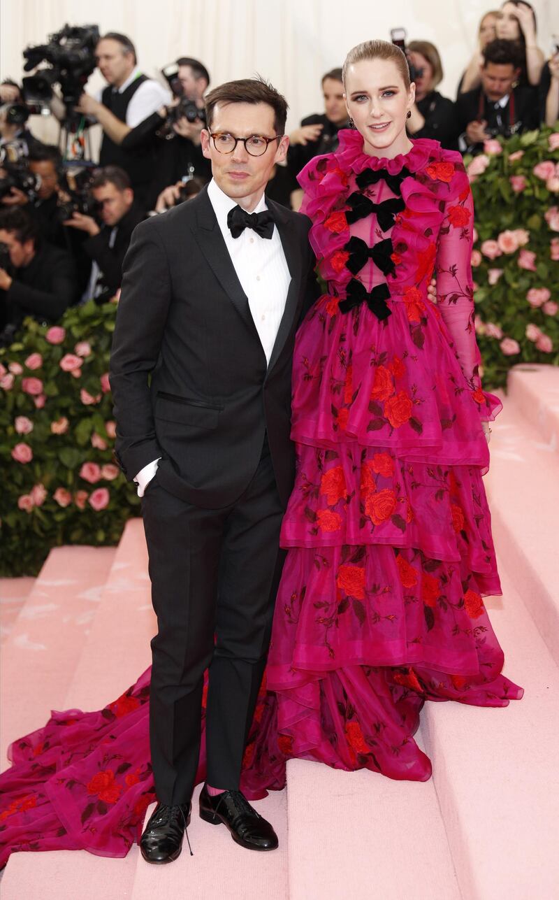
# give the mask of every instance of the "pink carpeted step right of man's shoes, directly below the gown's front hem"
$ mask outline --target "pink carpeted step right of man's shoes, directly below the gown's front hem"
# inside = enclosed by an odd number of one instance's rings
[[[289,761],[288,845],[289,900],[462,896],[432,780]]]

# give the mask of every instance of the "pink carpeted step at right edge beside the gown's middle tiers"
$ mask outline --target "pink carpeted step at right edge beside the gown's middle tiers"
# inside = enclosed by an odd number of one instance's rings
[[[559,455],[510,397],[493,426],[484,482],[497,551],[559,664]]]

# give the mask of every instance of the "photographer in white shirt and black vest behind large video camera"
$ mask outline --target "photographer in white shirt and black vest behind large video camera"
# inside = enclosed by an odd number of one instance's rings
[[[95,58],[107,87],[97,98],[82,94],[75,110],[94,116],[102,126],[100,165],[123,168],[138,199],[145,201],[154,174],[155,134],[146,134],[132,147],[125,142],[130,131],[169,102],[169,94],[142,75],[134,44],[124,34],[105,34],[97,44]]]

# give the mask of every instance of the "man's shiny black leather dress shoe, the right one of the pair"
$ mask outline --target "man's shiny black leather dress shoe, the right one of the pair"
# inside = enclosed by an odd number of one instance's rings
[[[248,850],[275,850],[278,835],[262,819],[240,790],[226,790],[210,797],[206,785],[200,791],[200,818],[212,825],[224,824],[233,840]]]

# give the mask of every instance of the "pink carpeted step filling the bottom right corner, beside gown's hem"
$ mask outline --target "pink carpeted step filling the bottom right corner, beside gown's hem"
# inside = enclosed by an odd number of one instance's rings
[[[516,572],[502,562],[501,579],[503,598],[487,608],[505,674],[524,697],[497,709],[427,703],[421,730],[461,896],[551,900],[559,896],[559,669],[519,596]]]

